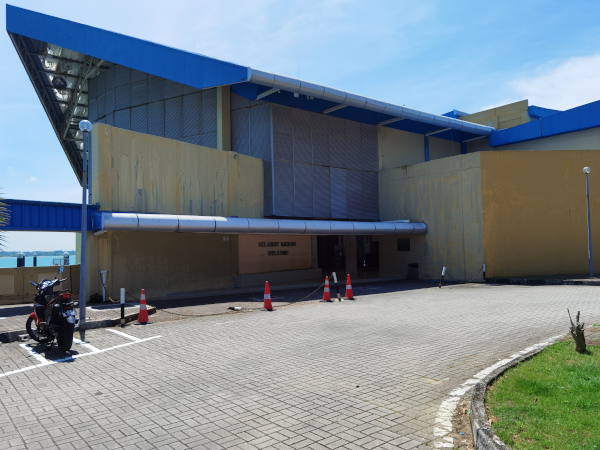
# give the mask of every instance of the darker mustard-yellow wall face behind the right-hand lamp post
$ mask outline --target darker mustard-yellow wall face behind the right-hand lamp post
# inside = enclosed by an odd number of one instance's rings
[[[481,153],[488,276],[587,273],[584,166],[600,258],[600,151]]]

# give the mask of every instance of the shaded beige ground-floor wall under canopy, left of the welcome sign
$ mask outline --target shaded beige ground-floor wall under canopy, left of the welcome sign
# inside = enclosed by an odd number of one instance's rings
[[[108,289],[149,299],[178,292],[233,287],[237,237],[200,233],[108,232],[90,235],[89,293],[101,290],[98,271],[109,271]]]

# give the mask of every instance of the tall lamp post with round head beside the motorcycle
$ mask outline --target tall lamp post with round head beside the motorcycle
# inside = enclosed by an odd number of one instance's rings
[[[92,122],[82,120],[79,129],[83,133],[82,174],[81,174],[81,262],[79,265],[79,337],[85,341],[85,308],[87,303],[87,204],[88,204],[88,165],[91,153],[90,133]]]

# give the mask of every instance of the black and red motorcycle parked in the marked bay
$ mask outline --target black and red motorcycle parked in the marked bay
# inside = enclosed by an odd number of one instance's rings
[[[56,339],[58,349],[68,352],[73,345],[73,332],[77,318],[69,290],[54,292],[66,278],[31,282],[36,289],[33,312],[29,314],[25,328],[27,334],[41,344]]]

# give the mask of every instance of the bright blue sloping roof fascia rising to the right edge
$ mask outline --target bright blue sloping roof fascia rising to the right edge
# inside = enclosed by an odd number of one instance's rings
[[[489,137],[489,142],[497,147],[595,127],[600,127],[600,100],[523,125],[494,131]]]

